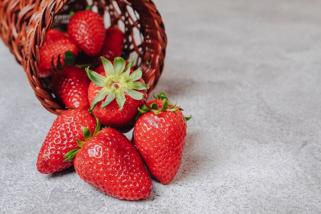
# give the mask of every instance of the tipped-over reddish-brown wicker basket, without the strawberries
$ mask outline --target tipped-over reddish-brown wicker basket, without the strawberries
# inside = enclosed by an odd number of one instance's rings
[[[39,101],[55,114],[66,108],[54,98],[50,80],[38,78],[39,49],[50,28],[66,29],[69,12],[83,10],[88,3],[94,5],[93,10],[105,14],[111,26],[124,31],[123,56],[129,59],[136,55],[135,67],[142,67],[150,91],[163,71],[167,38],[152,0],[1,0],[0,36],[24,67]]]

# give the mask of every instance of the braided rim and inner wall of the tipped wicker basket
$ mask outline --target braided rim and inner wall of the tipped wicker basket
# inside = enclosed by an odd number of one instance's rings
[[[131,60],[135,56],[134,67],[142,68],[143,79],[150,85],[151,90],[154,88],[163,71],[167,38],[162,18],[151,0],[68,0],[59,2],[65,3],[62,8],[56,3],[53,0],[50,3],[43,1],[44,7],[34,5],[35,8],[39,8],[39,11],[35,13],[31,24],[26,26],[30,38],[28,43],[26,42],[28,45],[24,47],[24,51],[29,54],[29,57],[24,59],[26,62],[23,62],[28,80],[46,109],[56,114],[66,110],[51,92],[51,79],[40,78],[38,75],[37,63],[41,60],[39,49],[45,43],[46,30],[55,28],[66,31],[70,11],[84,10],[92,4],[93,11],[104,15],[106,28],[117,26],[124,32],[122,56],[126,60]],[[42,12],[41,8],[46,9],[42,13],[45,14],[44,16],[39,15]]]

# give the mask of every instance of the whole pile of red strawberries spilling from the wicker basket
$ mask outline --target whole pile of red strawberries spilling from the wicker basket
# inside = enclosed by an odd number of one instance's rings
[[[146,199],[152,190],[147,170],[162,184],[174,179],[189,118],[165,93],[147,103],[142,69],[119,56],[121,30],[106,30],[90,9],[71,15],[67,33],[49,30],[40,51],[39,76],[52,77],[52,91],[69,110],[54,121],[37,169],[52,174],[74,166],[81,179],[112,197]],[[89,65],[77,65],[79,59]],[[123,133],[132,128],[129,141]]]

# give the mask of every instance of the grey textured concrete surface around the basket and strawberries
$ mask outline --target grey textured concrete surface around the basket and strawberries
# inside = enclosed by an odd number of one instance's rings
[[[0,43],[0,212],[321,213],[321,2],[155,3],[169,40],[156,91],[193,115],[174,181],[127,202],[72,169],[38,173],[55,115]]]

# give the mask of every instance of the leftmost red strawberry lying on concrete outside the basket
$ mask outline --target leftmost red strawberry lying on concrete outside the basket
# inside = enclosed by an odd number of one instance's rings
[[[72,166],[72,162],[64,162],[64,155],[70,150],[79,149],[76,140],[85,140],[83,126],[94,133],[95,125],[96,119],[83,109],[69,109],[59,115],[39,151],[38,171],[52,174]]]

